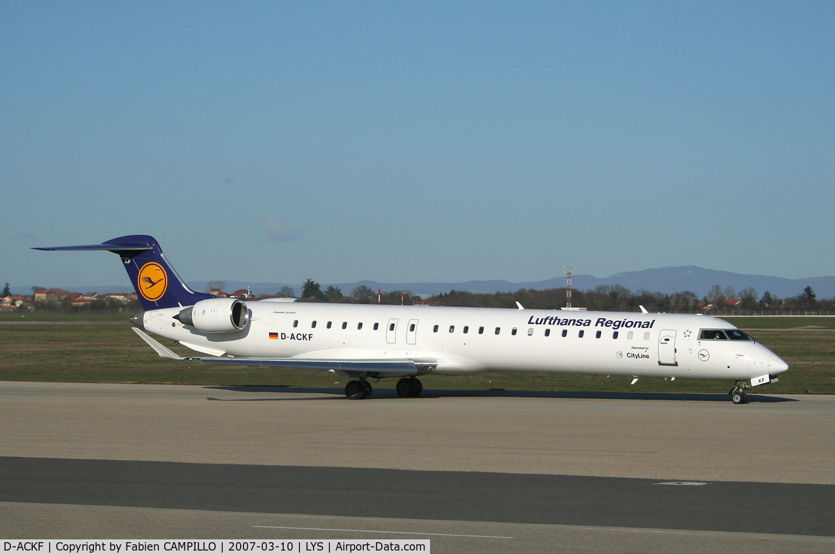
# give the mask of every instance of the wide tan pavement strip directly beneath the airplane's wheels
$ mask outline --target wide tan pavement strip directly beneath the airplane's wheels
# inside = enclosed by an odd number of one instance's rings
[[[424,395],[0,382],[0,456],[835,485],[835,396]]]

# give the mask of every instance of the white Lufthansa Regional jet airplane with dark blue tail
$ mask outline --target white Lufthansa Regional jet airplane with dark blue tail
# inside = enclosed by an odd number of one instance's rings
[[[190,290],[149,235],[36,249],[119,254],[144,309],[133,330],[164,358],[330,371],[352,378],[351,400],[372,395],[369,379],[397,378],[397,395],[414,397],[422,375],[502,370],[732,380],[731,400],[745,404],[746,389],[788,370],[709,315],[244,301]],[[145,331],[208,356],[177,355]]]

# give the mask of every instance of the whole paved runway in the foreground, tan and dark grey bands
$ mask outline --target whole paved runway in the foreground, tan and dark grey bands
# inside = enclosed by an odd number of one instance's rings
[[[0,383],[0,529],[835,551],[832,397],[333,392]]]

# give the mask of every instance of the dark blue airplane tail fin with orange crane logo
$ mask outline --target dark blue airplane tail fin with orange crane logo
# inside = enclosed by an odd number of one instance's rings
[[[104,244],[54,246],[36,250],[108,250],[119,254],[145,311],[190,306],[200,300],[215,298],[195,292],[185,285],[165,259],[156,239],[147,234],[130,234],[110,239]]]

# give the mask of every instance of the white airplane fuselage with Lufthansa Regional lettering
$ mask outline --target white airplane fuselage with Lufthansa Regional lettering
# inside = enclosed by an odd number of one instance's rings
[[[788,366],[754,340],[700,340],[736,327],[707,315],[248,301],[245,329],[205,333],[144,313],[145,330],[210,355],[438,360],[432,373],[489,370],[746,380]],[[498,331],[497,331],[498,330]]]

